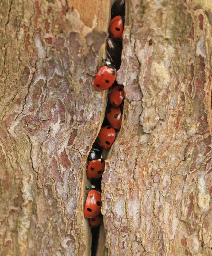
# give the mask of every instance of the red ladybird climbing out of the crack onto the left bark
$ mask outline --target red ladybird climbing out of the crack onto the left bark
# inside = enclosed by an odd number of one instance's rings
[[[105,66],[102,66],[94,79],[94,88],[97,91],[109,89],[116,79],[116,69],[110,60],[105,60]]]

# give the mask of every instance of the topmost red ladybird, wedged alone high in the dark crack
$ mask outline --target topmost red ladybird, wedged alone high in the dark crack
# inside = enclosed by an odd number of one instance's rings
[[[121,42],[123,37],[123,28],[124,28],[124,24],[120,15],[111,19],[111,22],[109,24],[109,29],[108,29],[110,37]]]

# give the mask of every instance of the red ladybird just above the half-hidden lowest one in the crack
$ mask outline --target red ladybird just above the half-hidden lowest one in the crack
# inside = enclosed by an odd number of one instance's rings
[[[101,194],[97,190],[90,190],[84,206],[84,217],[93,218],[100,213],[101,210]]]

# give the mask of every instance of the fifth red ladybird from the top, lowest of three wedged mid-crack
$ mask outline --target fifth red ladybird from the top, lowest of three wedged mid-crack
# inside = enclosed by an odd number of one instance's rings
[[[112,143],[115,141],[116,131],[111,126],[104,126],[101,128],[96,142],[103,149],[109,149]]]

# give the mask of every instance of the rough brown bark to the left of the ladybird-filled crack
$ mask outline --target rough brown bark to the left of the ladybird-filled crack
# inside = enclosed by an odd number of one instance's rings
[[[110,2],[90,3],[86,26],[72,1],[0,1],[2,256],[90,255],[85,165],[106,104],[92,83]]]

